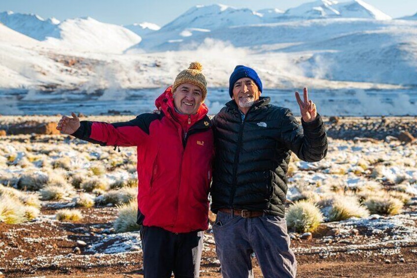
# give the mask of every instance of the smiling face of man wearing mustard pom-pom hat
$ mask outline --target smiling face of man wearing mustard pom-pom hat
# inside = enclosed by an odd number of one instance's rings
[[[200,87],[183,83],[173,93],[174,105],[182,114],[196,114],[203,103],[203,92]]]

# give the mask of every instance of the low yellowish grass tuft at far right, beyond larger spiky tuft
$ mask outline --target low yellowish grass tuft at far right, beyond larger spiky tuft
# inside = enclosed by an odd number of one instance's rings
[[[371,196],[364,205],[372,214],[379,215],[397,215],[402,212],[404,204],[391,196]]]

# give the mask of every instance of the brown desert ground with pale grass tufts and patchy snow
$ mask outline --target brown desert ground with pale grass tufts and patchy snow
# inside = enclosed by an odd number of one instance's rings
[[[0,277],[143,277],[134,224],[136,148],[118,152],[32,133],[59,119],[0,116]],[[298,277],[417,277],[417,119],[325,121],[327,157],[307,163],[293,155],[288,173]],[[41,129],[54,133],[54,124]],[[318,218],[294,222],[305,203],[315,209],[304,215]],[[200,277],[221,277],[214,218]],[[253,265],[255,277],[263,277],[255,256]]]

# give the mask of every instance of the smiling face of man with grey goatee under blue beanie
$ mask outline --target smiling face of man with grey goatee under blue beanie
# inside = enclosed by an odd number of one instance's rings
[[[261,92],[255,82],[248,77],[240,78],[233,85],[232,99],[236,101],[240,111],[246,114],[249,108],[259,99]]]

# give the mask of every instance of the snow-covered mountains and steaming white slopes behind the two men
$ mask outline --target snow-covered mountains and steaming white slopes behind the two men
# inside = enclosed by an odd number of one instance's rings
[[[392,19],[361,0],[319,0],[286,11],[198,5],[162,27],[123,27],[90,17],[59,22],[6,11],[0,13],[0,108],[12,113],[11,106],[54,99],[128,102],[132,94],[141,100],[199,61],[208,86],[217,88],[216,97],[209,94],[215,108],[227,100],[227,91],[217,96],[229,86],[234,67],[245,64],[267,90],[307,86],[330,90],[333,100],[381,90],[391,94],[388,102],[406,102],[407,109],[394,107],[390,115],[414,115],[416,19]],[[357,110],[363,113],[366,105]]]

